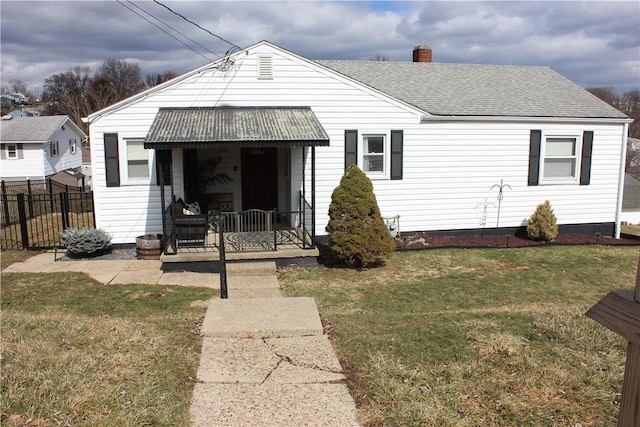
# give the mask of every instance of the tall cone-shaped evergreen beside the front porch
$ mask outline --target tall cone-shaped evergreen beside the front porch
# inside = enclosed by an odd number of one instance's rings
[[[393,255],[395,242],[380,216],[373,185],[356,165],[333,190],[326,230],[329,249],[348,266],[366,267]]]

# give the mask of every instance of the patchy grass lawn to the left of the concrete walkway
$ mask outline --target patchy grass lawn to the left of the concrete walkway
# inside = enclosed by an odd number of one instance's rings
[[[2,273],[0,423],[188,425],[212,296],[79,273]]]

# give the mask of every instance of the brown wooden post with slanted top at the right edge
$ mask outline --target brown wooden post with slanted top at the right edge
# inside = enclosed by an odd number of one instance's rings
[[[640,426],[640,258],[635,290],[610,292],[587,316],[629,341],[618,426]]]

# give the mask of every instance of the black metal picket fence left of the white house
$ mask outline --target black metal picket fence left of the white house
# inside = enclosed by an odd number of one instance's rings
[[[60,234],[70,227],[95,228],[93,192],[0,194],[3,250],[60,247]]]

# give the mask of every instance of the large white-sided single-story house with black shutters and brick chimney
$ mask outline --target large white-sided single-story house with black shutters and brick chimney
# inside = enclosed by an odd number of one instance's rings
[[[356,163],[401,233],[513,233],[545,200],[561,232],[619,233],[628,117],[548,67],[430,60],[419,46],[414,62],[315,61],[263,41],[93,113],[97,226],[114,243],[168,236],[174,196],[277,210],[319,237]]]

